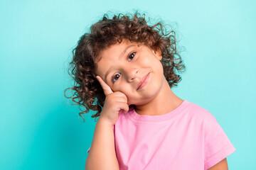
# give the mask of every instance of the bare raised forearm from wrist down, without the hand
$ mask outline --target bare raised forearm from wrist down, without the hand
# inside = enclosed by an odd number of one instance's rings
[[[95,133],[85,163],[85,169],[119,169],[114,149],[113,126],[102,118],[99,118],[95,125]]]

